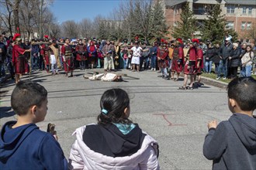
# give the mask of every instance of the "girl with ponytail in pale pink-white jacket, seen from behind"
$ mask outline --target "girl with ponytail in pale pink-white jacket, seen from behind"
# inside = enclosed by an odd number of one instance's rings
[[[122,89],[106,90],[98,124],[74,131],[70,169],[159,169],[158,144],[130,121],[130,98]]]

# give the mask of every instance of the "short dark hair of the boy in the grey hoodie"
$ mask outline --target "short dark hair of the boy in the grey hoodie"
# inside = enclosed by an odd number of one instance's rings
[[[256,108],[256,80],[251,76],[239,77],[227,85],[227,95],[237,101],[241,110],[255,110]]]

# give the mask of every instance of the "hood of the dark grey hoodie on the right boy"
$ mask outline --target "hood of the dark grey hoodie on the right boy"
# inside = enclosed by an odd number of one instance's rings
[[[246,114],[233,114],[229,121],[244,146],[246,148],[256,148],[256,117],[249,117]]]

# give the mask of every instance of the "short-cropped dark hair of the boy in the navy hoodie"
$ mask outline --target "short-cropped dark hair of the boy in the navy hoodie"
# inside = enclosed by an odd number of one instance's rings
[[[47,100],[47,90],[43,86],[30,80],[19,81],[12,91],[11,105],[20,116],[26,115],[33,105],[41,107],[44,100]]]

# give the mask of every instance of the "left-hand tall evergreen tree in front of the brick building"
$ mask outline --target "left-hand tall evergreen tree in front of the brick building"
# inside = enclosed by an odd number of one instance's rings
[[[178,26],[174,27],[171,36],[175,38],[191,39],[192,34],[196,31],[196,20],[189,3],[186,3],[181,13],[182,22],[178,22]]]

